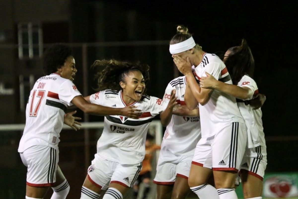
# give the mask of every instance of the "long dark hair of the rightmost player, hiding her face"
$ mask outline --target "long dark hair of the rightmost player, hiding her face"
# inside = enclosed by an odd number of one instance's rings
[[[245,39],[242,39],[240,46],[228,49],[229,56],[224,61],[233,81],[237,85],[243,75],[253,78],[254,57]]]

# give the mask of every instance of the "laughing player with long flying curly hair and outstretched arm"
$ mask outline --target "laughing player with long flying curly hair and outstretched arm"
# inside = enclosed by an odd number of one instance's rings
[[[142,111],[139,119],[106,115],[103,134],[97,141],[97,153],[83,183],[81,199],[97,199],[108,188],[103,199],[122,199],[133,187],[142,168],[145,139],[154,116],[172,114],[177,104],[175,93],[170,101],[143,95],[149,79],[149,66],[116,60],[97,60],[94,67],[105,67],[97,73],[98,90],[87,101],[109,107],[135,105]]]

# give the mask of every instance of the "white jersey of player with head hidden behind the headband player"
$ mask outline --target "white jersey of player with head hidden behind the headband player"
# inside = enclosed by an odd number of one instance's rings
[[[170,81],[164,93],[164,101],[169,101],[171,91],[176,89],[177,104],[185,105],[185,76]],[[193,154],[201,138],[200,116],[189,117],[173,115],[164,132],[162,145],[176,155]]]

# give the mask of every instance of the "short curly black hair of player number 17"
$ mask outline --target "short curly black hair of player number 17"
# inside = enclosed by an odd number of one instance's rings
[[[56,72],[61,68],[67,57],[72,55],[72,50],[65,44],[53,44],[44,52],[42,56],[42,69],[45,75]]]

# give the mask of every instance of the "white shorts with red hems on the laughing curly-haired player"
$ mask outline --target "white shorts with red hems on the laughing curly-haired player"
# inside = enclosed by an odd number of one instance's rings
[[[88,178],[95,186],[106,190],[110,183],[118,183],[125,187],[133,187],[142,169],[142,162],[138,164],[120,164],[105,160],[95,154],[88,168]]]

